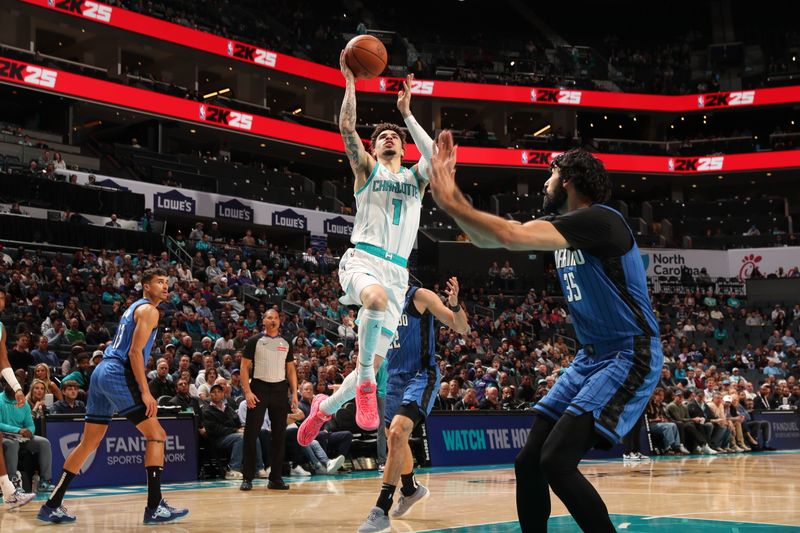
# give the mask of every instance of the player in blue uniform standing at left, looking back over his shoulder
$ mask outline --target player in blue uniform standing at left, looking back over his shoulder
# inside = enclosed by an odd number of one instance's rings
[[[167,299],[167,273],[163,269],[142,274],[142,298],[122,315],[114,340],[105,349],[89,382],[86,422],[81,442],[64,461],[64,472],[52,496],[42,505],[37,518],[51,524],[67,524],[76,518],[62,506],[69,484],[86,459],[103,440],[114,413],[130,420],[145,438],[144,464],[147,471],[145,524],[173,522],[188,509],[175,509],[161,497],[164,444],[167,434],[156,418],[158,405],[147,385],[147,361],[158,333],[158,304]]]

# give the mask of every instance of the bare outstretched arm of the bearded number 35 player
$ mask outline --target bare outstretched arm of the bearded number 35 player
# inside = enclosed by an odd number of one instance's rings
[[[478,211],[456,185],[457,146],[445,130],[433,145],[431,193],[436,203],[455,219],[475,246],[509,250],[560,250],[569,243],[555,226],[545,220],[520,224]]]

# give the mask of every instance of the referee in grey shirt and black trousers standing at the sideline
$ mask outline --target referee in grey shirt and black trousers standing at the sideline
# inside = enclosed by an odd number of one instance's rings
[[[286,447],[286,417],[289,403],[297,408],[297,373],[292,346],[280,336],[281,317],[274,309],[264,313],[264,333],[248,339],[242,358],[242,388],[247,401],[247,419],[244,425],[244,461],[241,490],[253,488],[255,477],[256,440],[265,411],[269,411],[272,425],[272,469],[267,487],[288,490],[283,482],[283,455]],[[253,379],[250,380],[252,367]],[[288,396],[288,397],[287,397]]]

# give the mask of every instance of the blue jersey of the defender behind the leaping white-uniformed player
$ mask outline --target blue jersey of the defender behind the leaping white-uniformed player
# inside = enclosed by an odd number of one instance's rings
[[[436,366],[436,338],[433,315],[426,311],[420,314],[414,305],[414,293],[418,287],[409,287],[403,314],[397,326],[389,352],[386,355],[386,371],[389,375],[416,373]]]

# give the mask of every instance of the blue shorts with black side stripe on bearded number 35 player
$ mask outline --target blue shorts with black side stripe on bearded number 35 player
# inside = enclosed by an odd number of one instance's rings
[[[533,410],[554,420],[592,413],[605,444],[614,444],[642,415],[663,362],[658,337],[587,344]]]

